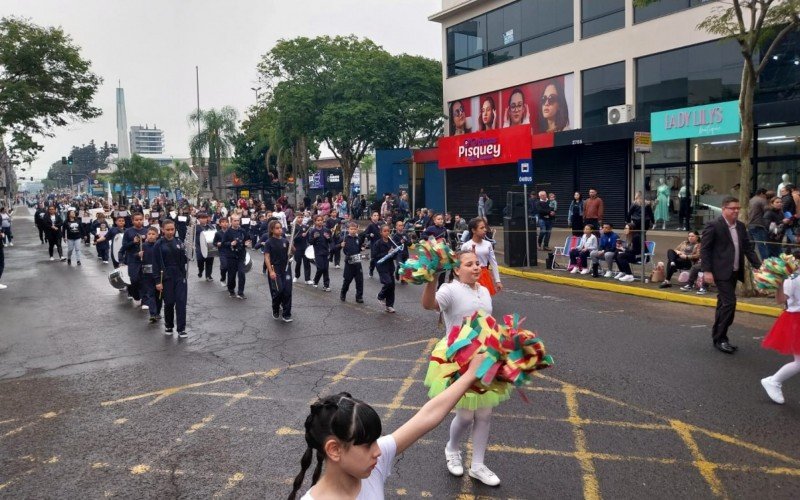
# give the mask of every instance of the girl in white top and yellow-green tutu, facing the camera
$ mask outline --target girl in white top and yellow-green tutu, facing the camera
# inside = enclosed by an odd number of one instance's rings
[[[459,327],[464,318],[472,316],[476,311],[492,314],[492,297],[486,287],[478,282],[481,276],[478,256],[473,250],[465,249],[459,252],[456,258],[458,267],[454,272],[457,279],[445,283],[438,290],[437,281],[433,280],[425,286],[422,294],[422,307],[440,311],[445,325],[445,336],[434,347],[432,358],[446,357],[447,334],[454,326]],[[425,376],[425,385],[430,387],[428,395],[431,397],[436,397],[447,388],[447,379],[441,376],[440,366],[440,363],[431,361]],[[483,394],[467,391],[458,401],[456,416],[450,424],[450,440],[445,447],[447,469],[452,475],[464,474],[460,448],[461,441],[471,425],[473,452],[469,475],[489,486],[500,484],[500,479],[484,465],[483,461],[489,444],[492,408],[507,400],[510,397],[509,391],[510,389],[504,393],[487,391]]]

